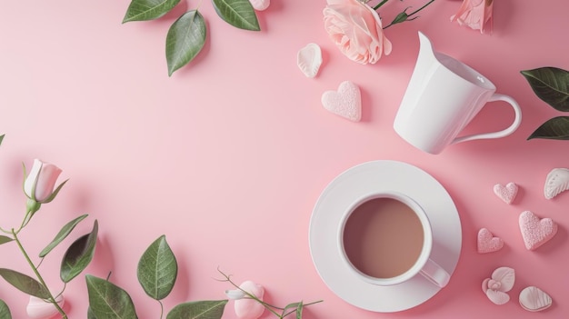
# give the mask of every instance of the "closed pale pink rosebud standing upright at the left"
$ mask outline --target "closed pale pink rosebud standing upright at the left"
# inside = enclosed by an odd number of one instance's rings
[[[56,194],[54,187],[59,174],[61,174],[59,167],[35,159],[30,174],[25,177],[25,195],[37,203],[50,202]]]

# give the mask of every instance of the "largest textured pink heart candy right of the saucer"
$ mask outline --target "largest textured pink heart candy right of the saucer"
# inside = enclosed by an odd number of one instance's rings
[[[534,213],[525,211],[520,214],[520,230],[525,248],[535,250],[557,234],[557,224],[551,218],[539,219]]]

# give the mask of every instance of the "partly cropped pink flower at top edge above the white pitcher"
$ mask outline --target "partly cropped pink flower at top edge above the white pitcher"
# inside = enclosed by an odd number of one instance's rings
[[[484,34],[484,26],[490,21],[490,31],[492,31],[493,5],[494,0],[464,0],[456,15],[451,16],[451,21],[480,30],[481,34]]]

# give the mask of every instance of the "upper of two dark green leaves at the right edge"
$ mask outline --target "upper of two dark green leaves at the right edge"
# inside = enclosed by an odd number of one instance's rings
[[[556,67],[522,71],[535,95],[557,111],[569,112],[569,72]]]

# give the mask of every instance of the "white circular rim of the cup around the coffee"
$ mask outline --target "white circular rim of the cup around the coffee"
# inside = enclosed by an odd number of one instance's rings
[[[411,267],[409,267],[409,269],[407,269],[403,274],[398,274],[391,278],[376,278],[369,274],[364,274],[364,272],[362,272],[357,267],[355,267],[354,264],[352,264],[347,254],[345,253],[345,248],[344,248],[344,229],[347,220],[354,213],[357,207],[364,204],[365,202],[369,202],[377,198],[392,198],[394,200],[402,202],[403,204],[406,204],[413,210],[414,214],[417,215],[419,221],[421,222],[421,225],[423,226],[423,247],[415,263]],[[417,202],[415,202],[413,198],[399,192],[381,192],[374,194],[365,194],[361,196],[359,199],[354,201],[354,203],[351,204],[349,208],[345,211],[345,213],[342,215],[342,218],[340,220],[340,225],[338,227],[338,234],[336,237],[338,240],[337,246],[339,247],[340,256],[344,262],[344,266],[346,266],[351,273],[353,273],[355,276],[357,276],[364,282],[367,282],[369,284],[382,285],[382,286],[401,284],[410,280],[415,275],[419,274],[421,272],[421,269],[423,269],[424,264],[426,264],[426,262],[430,258],[431,251],[433,249],[433,230],[429,218],[427,214],[424,212],[423,207]]]

